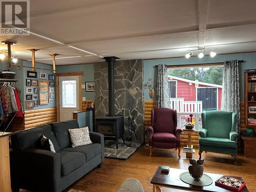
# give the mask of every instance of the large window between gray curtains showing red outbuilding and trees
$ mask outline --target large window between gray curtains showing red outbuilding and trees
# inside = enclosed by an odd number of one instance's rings
[[[220,110],[222,80],[222,66],[169,68],[171,105],[177,112]]]

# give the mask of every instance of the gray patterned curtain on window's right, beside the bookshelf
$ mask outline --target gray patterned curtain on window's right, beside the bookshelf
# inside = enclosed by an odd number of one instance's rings
[[[240,133],[240,92],[238,60],[224,61],[221,110],[237,113],[236,132]]]

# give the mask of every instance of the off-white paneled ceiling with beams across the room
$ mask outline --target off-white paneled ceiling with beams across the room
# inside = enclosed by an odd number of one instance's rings
[[[36,60],[51,64],[49,54],[57,53],[56,65],[177,57],[198,46],[256,51],[255,8],[255,0],[33,0],[31,34],[0,40],[16,41],[12,51],[21,59],[40,49]]]

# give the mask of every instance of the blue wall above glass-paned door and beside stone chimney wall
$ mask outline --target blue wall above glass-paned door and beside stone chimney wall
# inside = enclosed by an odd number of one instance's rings
[[[56,66],[57,73],[68,73],[68,72],[83,72],[82,84],[86,82],[94,82],[94,66],[93,63],[82,64],[82,65],[70,65],[70,66]],[[82,89],[82,96],[86,97],[86,100],[94,100],[94,92],[87,92]]]

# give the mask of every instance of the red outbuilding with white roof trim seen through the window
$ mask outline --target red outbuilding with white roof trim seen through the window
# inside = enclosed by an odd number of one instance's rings
[[[170,98],[173,98],[173,100],[183,98],[183,101],[190,101],[189,103],[202,101],[203,110],[221,109],[222,86],[218,84],[193,81],[170,75],[168,75],[168,83]]]

